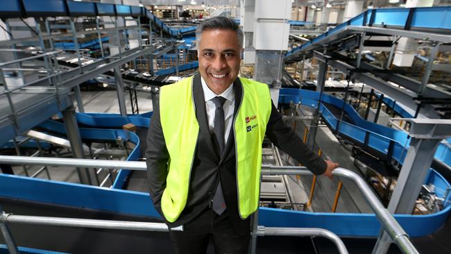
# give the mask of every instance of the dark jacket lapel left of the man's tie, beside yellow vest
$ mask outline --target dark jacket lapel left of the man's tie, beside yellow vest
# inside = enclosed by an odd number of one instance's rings
[[[207,110],[205,110],[205,96],[203,95],[201,74],[196,74],[193,78],[193,97],[201,138],[205,140],[205,143],[207,143],[207,146],[210,151],[212,151],[212,154],[216,156],[216,160],[219,160],[219,155],[213,145],[212,135],[210,135],[210,129],[208,128]]]

